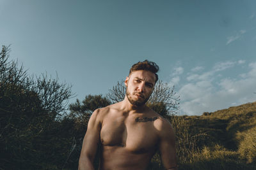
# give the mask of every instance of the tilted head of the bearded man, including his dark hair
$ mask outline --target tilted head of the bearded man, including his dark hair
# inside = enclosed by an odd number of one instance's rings
[[[125,79],[126,96],[131,104],[142,106],[148,101],[158,80],[158,70],[157,64],[148,60],[131,67],[129,76]]]

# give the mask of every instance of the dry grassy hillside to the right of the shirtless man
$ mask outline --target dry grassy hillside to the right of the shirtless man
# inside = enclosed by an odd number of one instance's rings
[[[256,102],[168,119],[176,131],[179,169],[256,169]]]

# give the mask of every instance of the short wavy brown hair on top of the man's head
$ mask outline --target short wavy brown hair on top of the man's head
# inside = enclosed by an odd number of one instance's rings
[[[136,64],[132,65],[129,75],[132,73],[132,71],[138,71],[138,70],[150,71],[151,73],[155,74],[156,81],[158,80],[158,75],[156,73],[159,70],[159,67],[157,66],[156,62],[152,62],[148,60],[144,60],[143,62],[139,61]]]

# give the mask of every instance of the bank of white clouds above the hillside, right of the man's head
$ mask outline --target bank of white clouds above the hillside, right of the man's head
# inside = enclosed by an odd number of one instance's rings
[[[238,74],[236,78],[216,80],[221,71],[239,67],[244,62],[221,62],[203,74],[190,74],[187,77],[189,82],[177,92],[181,99],[180,110],[188,115],[202,115],[205,111],[256,101],[256,62],[248,64],[250,71]]]

